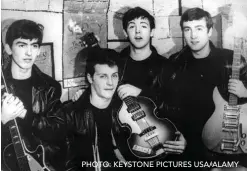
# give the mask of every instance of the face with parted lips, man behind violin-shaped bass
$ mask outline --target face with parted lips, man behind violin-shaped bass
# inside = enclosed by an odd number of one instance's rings
[[[130,43],[134,48],[142,49],[150,45],[150,38],[153,36],[153,30],[150,28],[148,19],[136,18],[128,23],[125,34],[129,37]]]

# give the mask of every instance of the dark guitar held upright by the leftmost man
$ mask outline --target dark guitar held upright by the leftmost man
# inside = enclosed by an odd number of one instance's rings
[[[3,72],[2,78],[4,87],[9,93]],[[8,144],[3,150],[4,171],[50,171],[45,164],[44,147],[39,145],[34,151],[28,150],[21,138],[16,119],[9,121],[7,125],[12,143]]]

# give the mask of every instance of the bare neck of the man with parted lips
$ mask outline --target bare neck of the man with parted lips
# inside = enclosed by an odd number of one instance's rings
[[[152,51],[149,44],[142,49],[136,49],[133,46],[130,46],[130,57],[135,61],[142,61],[148,58],[151,53]]]

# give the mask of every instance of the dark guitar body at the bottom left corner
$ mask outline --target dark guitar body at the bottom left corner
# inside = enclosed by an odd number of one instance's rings
[[[23,143],[24,144],[24,143]],[[9,144],[3,151],[4,165],[7,170],[4,171],[50,171],[45,163],[44,148],[39,145],[35,151],[29,151],[25,147],[25,155],[17,160],[13,144]],[[21,168],[19,166],[21,163]]]

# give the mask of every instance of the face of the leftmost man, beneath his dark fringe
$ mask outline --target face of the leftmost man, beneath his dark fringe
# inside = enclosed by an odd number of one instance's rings
[[[7,53],[12,55],[12,65],[16,65],[20,69],[31,69],[36,57],[40,53],[38,40],[28,40],[18,38],[15,39],[12,47],[7,45]]]

